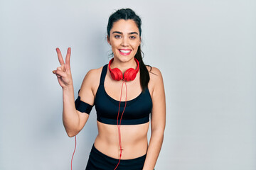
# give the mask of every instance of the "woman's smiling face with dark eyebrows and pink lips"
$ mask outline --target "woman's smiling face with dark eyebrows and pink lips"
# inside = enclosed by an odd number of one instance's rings
[[[107,42],[112,47],[115,59],[121,62],[132,60],[141,42],[139,28],[133,20],[116,21],[113,23]]]

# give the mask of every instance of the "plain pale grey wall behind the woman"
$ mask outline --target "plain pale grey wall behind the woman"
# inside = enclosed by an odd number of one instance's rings
[[[70,169],[75,139],[62,123],[55,47],[72,48],[75,98],[89,69],[109,61],[107,19],[142,17],[146,64],[166,89],[166,131],[156,169],[256,169],[256,2],[0,1],[0,169]],[[95,109],[78,135],[85,169]],[[149,133],[150,136],[150,133]]]

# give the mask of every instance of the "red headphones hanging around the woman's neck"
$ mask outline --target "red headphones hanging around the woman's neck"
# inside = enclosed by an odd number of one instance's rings
[[[133,68],[127,69],[127,71],[124,72],[124,77],[123,77],[120,69],[118,69],[118,68],[111,69],[110,68],[110,64],[113,62],[113,60],[114,60],[114,58],[112,58],[112,60],[110,60],[110,63],[109,63],[109,70],[110,70],[112,79],[117,80],[117,81],[119,81],[121,79],[124,79],[125,81],[132,81],[135,79],[137,73],[139,72],[139,61],[136,58],[134,58],[134,60],[135,60],[135,62],[137,62],[137,69],[133,69]]]

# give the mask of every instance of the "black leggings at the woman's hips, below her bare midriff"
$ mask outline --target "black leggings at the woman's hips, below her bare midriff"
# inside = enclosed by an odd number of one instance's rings
[[[142,170],[145,159],[146,154],[135,159],[121,159],[117,166],[119,159],[103,154],[93,145],[85,170],[114,170],[116,166],[117,170]]]

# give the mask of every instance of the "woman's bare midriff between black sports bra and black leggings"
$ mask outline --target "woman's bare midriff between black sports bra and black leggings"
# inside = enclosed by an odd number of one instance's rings
[[[117,125],[108,125],[97,121],[97,128],[98,135],[95,139],[95,148],[109,157],[119,159],[120,147]],[[148,130],[149,122],[139,125],[121,125],[121,159],[134,159],[146,154]]]

